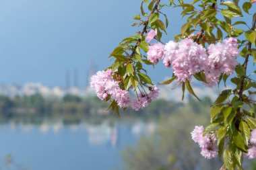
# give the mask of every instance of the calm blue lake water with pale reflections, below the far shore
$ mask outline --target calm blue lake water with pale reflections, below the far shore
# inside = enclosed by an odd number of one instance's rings
[[[103,119],[67,124],[61,119],[39,123],[9,120],[0,125],[2,169],[102,170],[123,169],[121,151],[141,135],[154,132],[154,122]],[[11,155],[10,165],[5,165]]]

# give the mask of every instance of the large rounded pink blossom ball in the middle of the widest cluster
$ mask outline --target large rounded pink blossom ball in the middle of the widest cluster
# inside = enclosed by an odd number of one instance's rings
[[[178,81],[191,81],[191,76],[205,68],[207,53],[203,46],[186,38],[181,42],[170,41],[164,46],[164,65],[172,65]]]

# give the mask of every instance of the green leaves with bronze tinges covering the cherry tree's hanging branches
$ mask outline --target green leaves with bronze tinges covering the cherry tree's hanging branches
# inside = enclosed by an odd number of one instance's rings
[[[243,62],[234,69],[236,75],[223,74],[218,82],[219,85],[222,85],[221,81],[223,80],[226,87],[227,81],[230,80],[235,87],[224,89],[217,97],[210,112],[211,124],[205,128],[205,133],[217,137],[219,155],[222,156],[224,163],[222,169],[243,169],[243,155],[249,148],[248,140],[251,131],[256,128],[256,103],[253,101],[256,94],[256,83],[252,77],[255,72],[248,73],[247,71],[248,62],[253,62],[253,64],[256,62],[256,13],[253,13],[252,9],[255,9],[253,5],[251,1],[237,0],[173,0],[168,1],[167,4],[160,0],[144,0],[141,2],[141,14],[133,17],[135,19],[133,26],[140,26],[141,31],[125,38],[110,53],[110,57],[115,60],[110,68],[113,69],[115,79],[120,82],[120,87],[127,91],[137,92],[141,87],[148,88],[153,84],[144,69],[145,65],[153,65],[146,57],[150,44],[145,41],[145,38],[150,30],[157,30],[158,34],[155,39],[161,42],[162,33],[168,33],[166,30],[168,17],[162,12],[162,8],[179,7],[182,9],[181,17],[186,21],[181,27],[180,34],[174,36],[174,40],[177,42],[190,37],[191,34],[195,34],[196,36],[192,37],[193,40],[204,47],[222,41],[226,37],[238,39],[238,48],[241,51],[239,60],[243,60]],[[244,17],[250,17],[253,25],[246,23]],[[241,29],[239,26],[246,27]],[[177,80],[174,75],[170,77],[160,85],[168,85]],[[203,71],[193,77],[197,81],[207,83]],[[182,99],[186,90],[193,97],[199,99],[189,80],[178,82],[177,85],[182,87]],[[110,101],[109,108],[119,114],[117,103],[109,97],[106,101]]]

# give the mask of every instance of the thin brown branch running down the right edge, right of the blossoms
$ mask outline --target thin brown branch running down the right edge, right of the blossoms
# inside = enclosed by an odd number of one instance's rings
[[[253,26],[251,27],[251,30],[254,30],[255,29],[255,25],[256,25],[256,16],[255,18],[253,18]],[[247,50],[249,52],[251,52],[251,42],[248,42],[248,45],[247,45]],[[243,101],[243,89],[244,89],[244,85],[245,85],[245,78],[246,78],[246,73],[247,73],[247,64],[248,64],[248,60],[249,60],[249,56],[251,54],[247,54],[246,58],[245,58],[245,62],[243,63],[243,67],[245,68],[245,75],[242,77],[242,81],[241,81],[241,87],[239,89],[239,92],[238,92],[238,95],[239,95],[239,99],[241,101]]]

